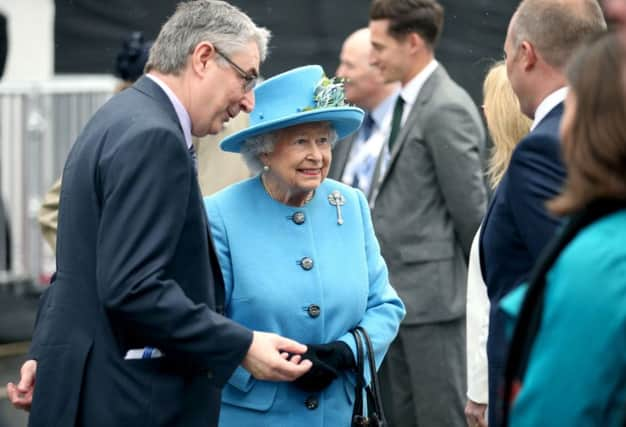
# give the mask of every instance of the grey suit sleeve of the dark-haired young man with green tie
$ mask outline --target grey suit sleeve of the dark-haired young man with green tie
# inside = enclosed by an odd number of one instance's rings
[[[433,112],[433,117],[426,119],[430,126],[424,136],[467,259],[487,203],[480,160],[485,133],[469,107],[461,103],[446,103]]]

